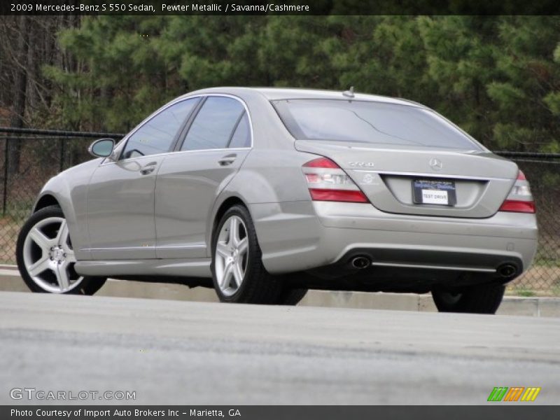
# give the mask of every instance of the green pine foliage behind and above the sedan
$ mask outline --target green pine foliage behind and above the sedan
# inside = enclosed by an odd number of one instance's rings
[[[99,16],[59,43],[74,65],[43,70],[62,127],[124,132],[202,87],[353,85],[492,149],[560,149],[558,16]]]

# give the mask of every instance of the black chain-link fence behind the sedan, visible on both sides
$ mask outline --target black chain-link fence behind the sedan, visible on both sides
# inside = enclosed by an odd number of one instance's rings
[[[0,127],[0,264],[15,264],[15,241],[44,183],[91,159],[92,139],[122,134]],[[539,244],[533,266],[509,285],[517,295],[560,295],[560,154],[498,152],[517,162],[537,205]],[[16,165],[17,162],[17,165]]]

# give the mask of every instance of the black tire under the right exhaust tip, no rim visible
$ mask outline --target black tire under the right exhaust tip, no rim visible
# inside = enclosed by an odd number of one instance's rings
[[[501,284],[482,284],[451,293],[432,290],[432,297],[440,312],[461,312],[466,314],[496,314],[505,293]]]

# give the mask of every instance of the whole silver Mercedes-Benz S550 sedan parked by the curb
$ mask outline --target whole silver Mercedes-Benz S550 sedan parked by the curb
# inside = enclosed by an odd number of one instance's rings
[[[517,165],[402,99],[199,90],[90,152],[20,232],[31,290],[92,294],[111,276],[214,286],[224,302],[431,292],[440,311],[494,313],[535,254]]]

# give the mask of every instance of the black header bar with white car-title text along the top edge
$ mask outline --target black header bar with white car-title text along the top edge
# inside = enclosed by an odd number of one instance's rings
[[[560,1],[2,0],[0,15],[560,15]]]

